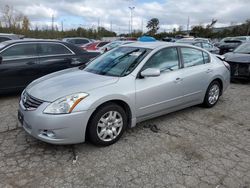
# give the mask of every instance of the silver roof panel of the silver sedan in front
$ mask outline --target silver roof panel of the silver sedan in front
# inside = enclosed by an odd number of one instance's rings
[[[148,48],[148,49],[156,49],[160,47],[168,47],[168,46],[178,46],[180,44],[175,44],[171,42],[134,42],[130,44],[126,44],[125,46],[130,46],[130,47],[138,47],[138,48]]]

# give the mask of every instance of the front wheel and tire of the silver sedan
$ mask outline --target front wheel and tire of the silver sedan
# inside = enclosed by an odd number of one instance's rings
[[[127,125],[128,117],[124,109],[115,103],[108,103],[91,117],[87,136],[94,145],[109,146],[120,139]]]

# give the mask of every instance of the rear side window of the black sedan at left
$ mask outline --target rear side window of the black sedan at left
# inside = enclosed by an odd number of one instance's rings
[[[61,44],[43,43],[39,44],[39,55],[69,55],[72,52]]]

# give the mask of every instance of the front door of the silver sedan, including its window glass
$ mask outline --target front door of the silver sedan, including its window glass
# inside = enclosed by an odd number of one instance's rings
[[[144,65],[147,68],[158,68],[161,75],[136,79],[137,117],[150,116],[162,110],[181,104],[182,75],[179,69],[177,48],[165,48],[155,53]]]

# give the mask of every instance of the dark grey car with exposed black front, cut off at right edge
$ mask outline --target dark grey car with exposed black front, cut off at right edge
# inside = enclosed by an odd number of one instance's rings
[[[224,56],[231,67],[232,79],[250,79],[250,43],[243,43]]]

